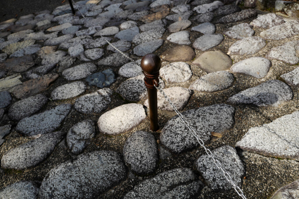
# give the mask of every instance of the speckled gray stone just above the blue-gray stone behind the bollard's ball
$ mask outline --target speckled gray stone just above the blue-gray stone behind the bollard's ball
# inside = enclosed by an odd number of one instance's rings
[[[164,32],[165,32],[164,28],[156,28],[156,29],[148,30],[146,32],[135,35],[132,39],[132,42],[136,45],[139,45],[148,41],[153,41],[161,38]]]

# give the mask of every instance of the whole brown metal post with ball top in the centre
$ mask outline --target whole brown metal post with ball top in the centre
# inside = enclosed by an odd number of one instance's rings
[[[161,59],[158,55],[149,53],[141,59],[141,68],[144,74],[144,84],[147,87],[147,97],[149,100],[149,121],[150,129],[157,131],[158,125],[158,105],[157,105],[157,87],[159,86],[159,70],[161,68]]]

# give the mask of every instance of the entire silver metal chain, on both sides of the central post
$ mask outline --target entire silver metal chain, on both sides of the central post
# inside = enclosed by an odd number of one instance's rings
[[[80,12],[81,16],[83,18],[85,18],[85,16],[83,15],[83,13],[79,10],[79,8],[77,7],[77,5],[75,4],[74,0],[71,0],[74,4],[74,6],[76,7],[76,9]],[[126,54],[124,54],[122,51],[120,51],[118,48],[116,48],[113,44],[111,44],[105,37],[103,37],[99,31],[97,31],[94,27],[91,27],[93,30],[96,31],[96,33],[98,33],[101,38],[103,38],[104,41],[106,41],[109,45],[111,45],[115,50],[117,50],[120,54],[122,54],[123,56],[125,56],[126,58],[128,58],[129,60],[131,60],[132,62],[134,62],[136,65],[140,66],[139,63],[137,63],[135,60],[133,60],[132,58],[130,58],[129,56],[127,56]],[[141,67],[141,66],[140,66]],[[181,120],[184,122],[184,124],[186,125],[186,127],[190,130],[191,134],[196,138],[196,140],[199,142],[200,146],[202,146],[205,149],[205,152],[207,153],[207,155],[212,158],[213,163],[216,165],[216,167],[218,169],[220,169],[225,177],[225,179],[231,183],[231,185],[233,186],[234,190],[237,192],[237,194],[239,196],[241,196],[241,198],[246,199],[245,195],[242,192],[242,189],[237,186],[233,179],[231,178],[231,175],[228,174],[228,172],[225,172],[222,168],[222,164],[219,162],[219,160],[215,159],[213,157],[212,152],[210,151],[210,149],[207,149],[205,147],[205,143],[204,141],[202,141],[201,138],[199,138],[198,134],[190,127],[190,124],[183,118],[183,115],[178,111],[178,109],[176,108],[176,106],[171,102],[171,100],[167,97],[167,95],[165,94],[165,92],[162,90],[161,88],[161,84],[159,83],[159,87],[156,87],[156,85],[154,85],[156,89],[159,89],[159,91],[161,92],[161,94],[164,96],[164,98],[169,102],[170,106],[173,108],[173,110],[176,112],[177,115],[179,115],[179,117],[181,118]]]

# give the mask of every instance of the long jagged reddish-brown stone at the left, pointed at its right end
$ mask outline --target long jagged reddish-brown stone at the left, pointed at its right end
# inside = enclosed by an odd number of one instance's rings
[[[58,74],[47,74],[37,79],[25,81],[11,89],[11,94],[18,99],[28,98],[46,90],[58,76]]]

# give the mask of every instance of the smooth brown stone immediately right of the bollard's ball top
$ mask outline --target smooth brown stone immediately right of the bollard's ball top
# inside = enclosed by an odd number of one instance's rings
[[[160,58],[166,61],[190,61],[195,57],[195,52],[190,46],[176,46],[164,51]]]

